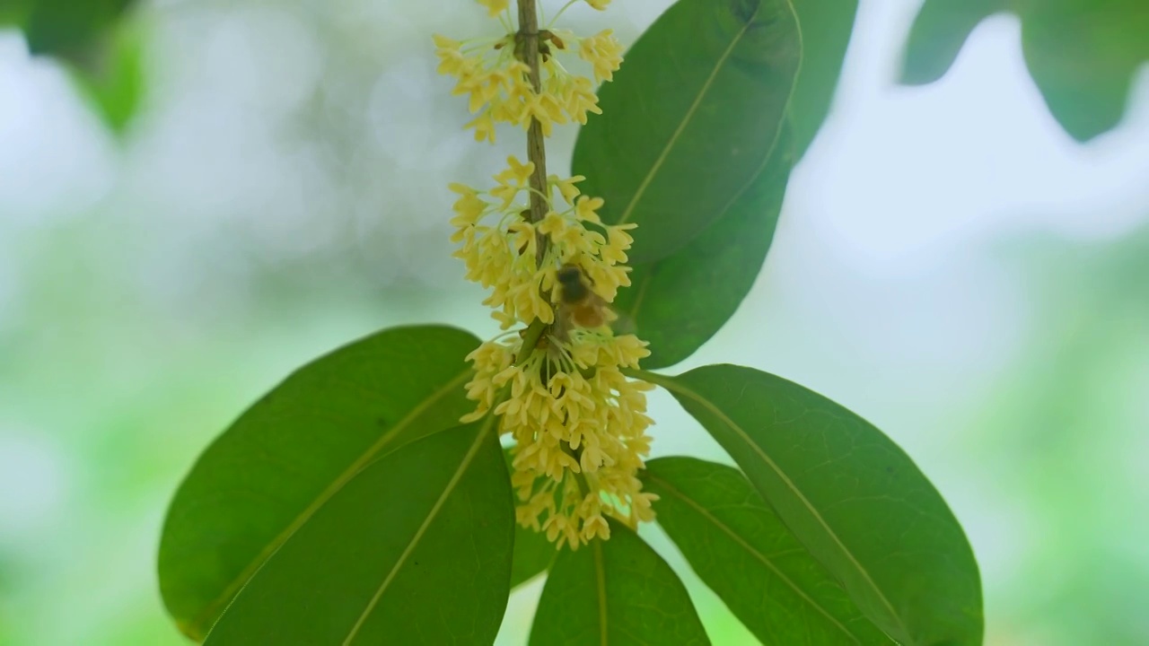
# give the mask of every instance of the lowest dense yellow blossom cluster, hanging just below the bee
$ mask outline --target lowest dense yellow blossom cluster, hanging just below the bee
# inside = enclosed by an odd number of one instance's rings
[[[653,386],[620,372],[649,354],[646,344],[609,329],[574,330],[569,339],[548,336],[545,349],[516,366],[520,344],[492,340],[468,356],[476,370],[468,397],[478,408],[463,420],[493,408],[501,432],[515,439],[518,522],[577,548],[609,538],[603,515],[631,526],[651,520],[657,497],[642,491],[637,474],[650,451],[645,393]]]

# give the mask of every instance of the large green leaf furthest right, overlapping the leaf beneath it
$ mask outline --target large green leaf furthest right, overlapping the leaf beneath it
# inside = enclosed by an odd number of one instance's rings
[[[981,644],[981,584],[954,514],[878,429],[780,377],[707,366],[666,389],[858,608],[897,641]]]

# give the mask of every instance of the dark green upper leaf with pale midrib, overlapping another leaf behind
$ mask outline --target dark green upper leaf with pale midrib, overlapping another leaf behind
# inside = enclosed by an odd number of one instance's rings
[[[679,0],[631,47],[572,162],[604,222],[639,225],[631,262],[683,248],[753,182],[800,59],[785,0]]]

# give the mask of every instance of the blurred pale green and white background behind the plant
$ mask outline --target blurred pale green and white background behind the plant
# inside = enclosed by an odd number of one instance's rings
[[[669,1],[614,5],[566,15],[631,43]],[[988,644],[1149,644],[1149,70],[1121,126],[1079,146],[1010,17],[940,83],[896,86],[917,6],[862,2],[765,270],[688,364],[777,372],[900,443],[970,535]],[[199,451],[372,330],[494,332],[449,257],[445,185],[489,176],[524,138],[471,141],[430,44],[481,33],[483,14],[145,2],[118,133],[0,32],[0,644],[186,643],[154,563]],[[651,408],[655,454],[725,460],[669,397]],[[500,644],[525,643],[540,592],[512,595]],[[716,644],[754,643],[692,594]]]

